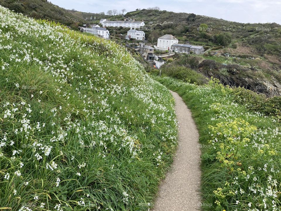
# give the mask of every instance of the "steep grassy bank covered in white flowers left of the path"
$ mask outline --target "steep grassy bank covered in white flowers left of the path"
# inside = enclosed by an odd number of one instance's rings
[[[125,48],[0,7],[0,210],[148,210],[174,100]]]

